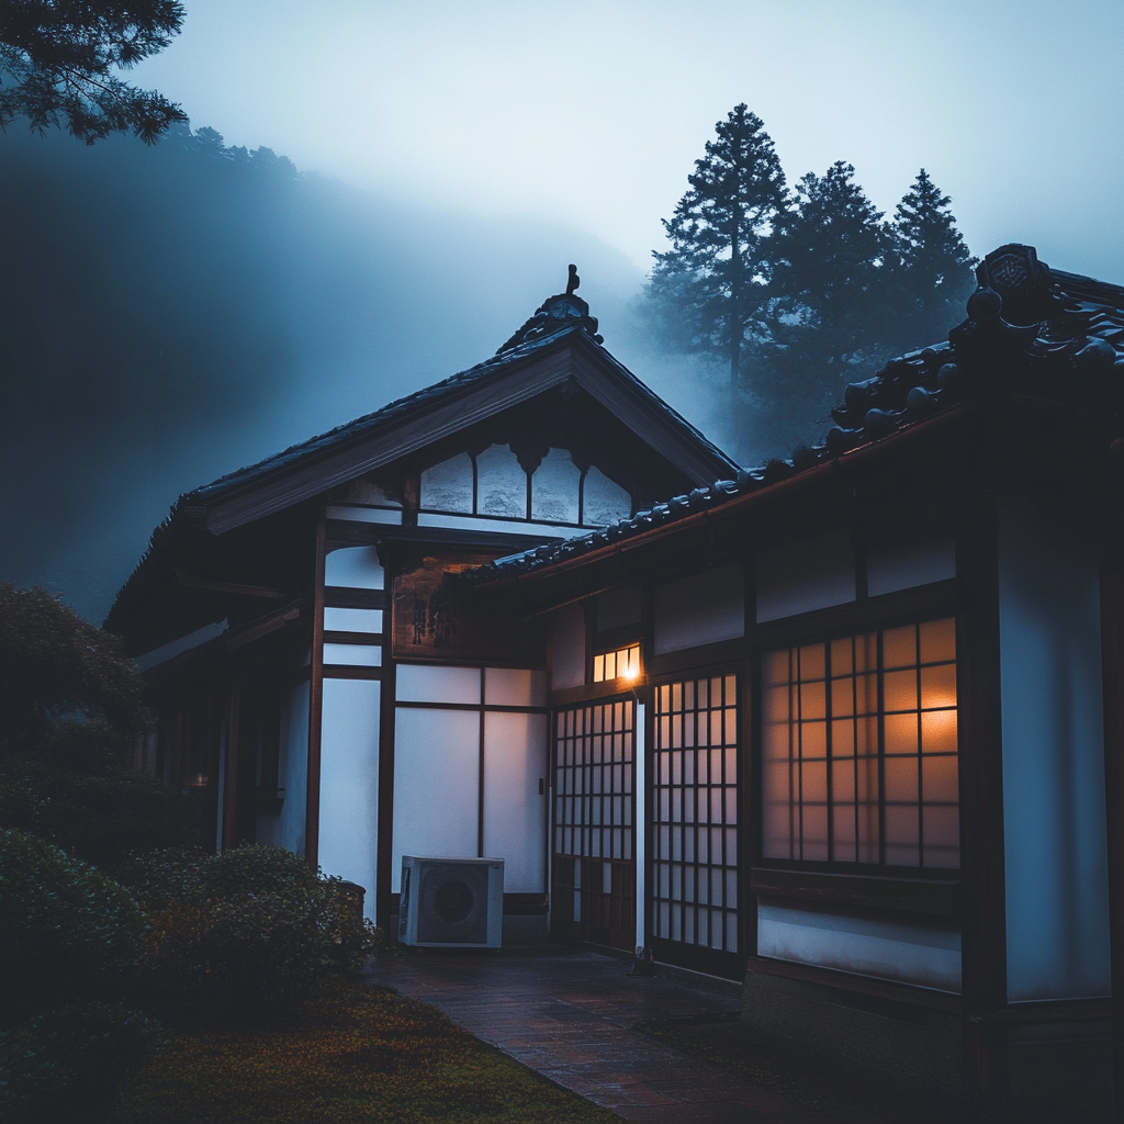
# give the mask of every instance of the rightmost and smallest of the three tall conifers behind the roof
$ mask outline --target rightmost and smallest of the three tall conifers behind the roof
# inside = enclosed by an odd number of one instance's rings
[[[941,194],[923,167],[894,214],[892,273],[897,305],[895,352],[943,339],[964,316],[964,301],[976,288],[976,259],[968,252],[952,200]]]

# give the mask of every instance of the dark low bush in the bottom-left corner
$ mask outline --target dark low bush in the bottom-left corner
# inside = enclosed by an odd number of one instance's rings
[[[158,1024],[119,1004],[72,1004],[0,1031],[0,1120],[100,1120],[158,1041]]]

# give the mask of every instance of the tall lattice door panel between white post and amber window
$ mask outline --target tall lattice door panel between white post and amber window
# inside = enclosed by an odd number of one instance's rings
[[[654,932],[736,952],[737,677],[655,691]]]

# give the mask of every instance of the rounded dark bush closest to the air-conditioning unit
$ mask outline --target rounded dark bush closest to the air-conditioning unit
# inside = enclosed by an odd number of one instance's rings
[[[283,847],[155,854],[136,886],[152,925],[151,967],[169,1000],[282,1010],[318,975],[374,948],[375,931],[339,880],[318,877]]]

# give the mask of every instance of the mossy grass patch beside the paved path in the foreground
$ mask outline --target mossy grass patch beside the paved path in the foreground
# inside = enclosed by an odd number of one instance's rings
[[[387,988],[328,978],[265,1026],[169,1032],[112,1124],[610,1124],[568,1093]]]

